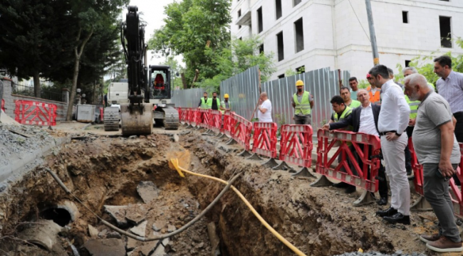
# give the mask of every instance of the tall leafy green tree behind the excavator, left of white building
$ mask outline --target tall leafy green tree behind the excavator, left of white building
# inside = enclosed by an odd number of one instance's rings
[[[164,56],[183,55],[188,84],[195,70],[200,79],[213,78],[218,70],[212,53],[221,53],[230,43],[230,5],[229,0],[184,0],[165,6],[165,26],[155,30],[149,48]]]

